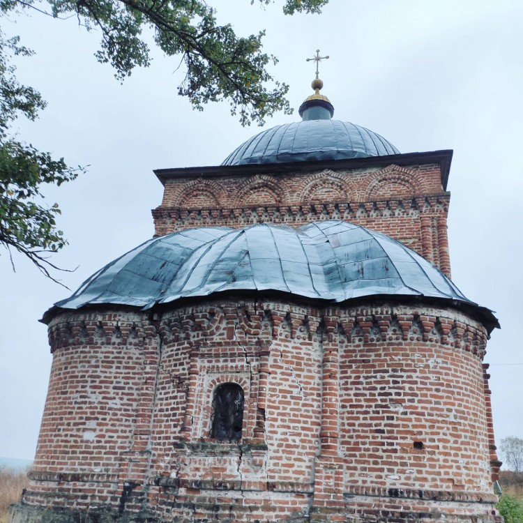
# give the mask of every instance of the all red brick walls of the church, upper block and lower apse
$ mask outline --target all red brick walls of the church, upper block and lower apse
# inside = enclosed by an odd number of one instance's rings
[[[162,169],[156,235],[345,220],[450,276],[450,159]],[[473,306],[268,289],[45,319],[50,387],[12,523],[501,522],[492,325]],[[243,395],[232,439],[213,437],[224,384]]]

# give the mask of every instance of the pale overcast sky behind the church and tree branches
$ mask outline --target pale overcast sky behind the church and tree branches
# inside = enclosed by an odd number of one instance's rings
[[[523,437],[520,302],[523,254],[523,2],[521,0],[331,0],[319,16],[284,17],[281,4],[212,1],[237,33],[266,29],[264,50],[291,86],[298,108],[312,93],[317,48],[335,118],[386,137],[402,153],[454,149],[448,190],[453,281],[471,300],[497,311],[487,363],[497,441]],[[93,57],[99,34],[74,19],[35,14],[2,21],[36,56],[18,76],[48,107],[20,121],[20,139],[89,172],[47,190],[59,202],[69,245],[53,261],[75,268],[59,278],[76,289],[89,275],[153,234],[151,209],[162,186],[152,169],[218,165],[259,128],[241,128],[227,103],[194,112],[176,96],[179,60],[154,52],[150,68],[123,83]],[[296,121],[278,115],[265,128]],[[15,256],[0,251],[0,456],[32,459],[52,356],[38,319],[70,294]]]

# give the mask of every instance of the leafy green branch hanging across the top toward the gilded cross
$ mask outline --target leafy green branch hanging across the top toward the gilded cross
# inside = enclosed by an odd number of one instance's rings
[[[251,0],[254,3],[255,0]],[[262,4],[273,0],[258,0]],[[319,13],[328,0],[285,0],[283,10]],[[205,0],[0,0],[5,9],[37,9],[53,17],[77,17],[102,38],[96,58],[110,63],[117,79],[137,66],[148,66],[146,29],[167,54],[179,56],[185,77],[178,87],[195,109],[212,101],[229,100],[242,125],[260,125],[275,112],[291,112],[285,98],[289,86],[275,81],[268,66],[277,63],[262,51],[265,31],[237,36],[231,24],[220,25],[215,8]]]

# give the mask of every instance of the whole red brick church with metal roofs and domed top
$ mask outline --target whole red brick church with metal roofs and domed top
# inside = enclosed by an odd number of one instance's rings
[[[156,171],[155,236],[45,313],[13,523],[501,521],[452,151],[402,154],[321,87],[222,165]]]

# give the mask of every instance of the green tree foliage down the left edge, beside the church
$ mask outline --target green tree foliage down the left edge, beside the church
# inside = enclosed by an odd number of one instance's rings
[[[56,252],[66,240],[55,227],[59,206],[47,207],[38,199],[43,197],[43,184],[73,180],[78,169],[11,135],[10,126],[20,114],[34,120],[45,107],[38,91],[17,81],[10,64],[13,55],[27,56],[31,51],[20,45],[18,37],[4,38],[0,32],[0,243],[9,252],[22,252],[52,278],[50,269],[56,266],[46,253]]]

